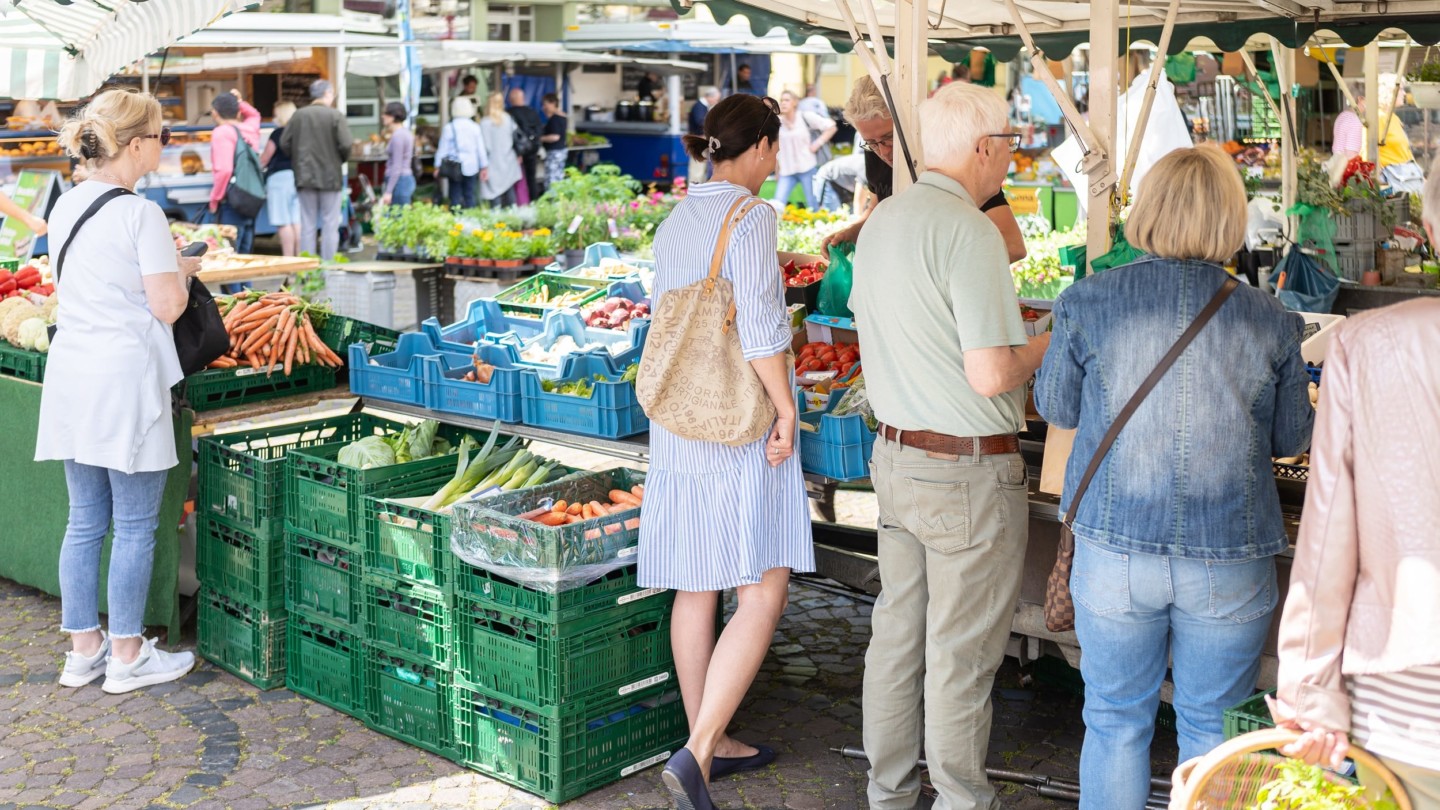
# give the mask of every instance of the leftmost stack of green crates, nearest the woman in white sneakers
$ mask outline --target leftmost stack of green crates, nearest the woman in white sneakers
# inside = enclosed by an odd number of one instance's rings
[[[346,415],[200,441],[196,572],[200,654],[261,689],[285,683],[285,457],[364,435]]]

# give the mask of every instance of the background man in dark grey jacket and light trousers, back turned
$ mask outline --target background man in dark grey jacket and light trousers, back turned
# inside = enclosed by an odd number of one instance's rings
[[[318,79],[310,85],[310,107],[295,111],[279,146],[289,153],[300,190],[300,251],[330,261],[340,249],[340,208],[346,193],[346,159],[350,156],[350,127],[334,108],[336,91]]]

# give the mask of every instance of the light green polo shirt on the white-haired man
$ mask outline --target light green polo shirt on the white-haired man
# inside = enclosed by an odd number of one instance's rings
[[[876,208],[855,245],[850,308],[881,422],[960,437],[1024,427],[1024,386],[985,398],[965,376],[965,352],[1030,339],[1005,241],[958,182],[926,172]]]

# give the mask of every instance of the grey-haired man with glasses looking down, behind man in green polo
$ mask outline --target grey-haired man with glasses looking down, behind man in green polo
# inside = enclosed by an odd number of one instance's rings
[[[874,192],[874,205],[884,202],[894,192],[894,120],[890,118],[890,107],[886,105],[884,95],[870,76],[860,76],[845,102],[845,120],[855,127],[860,148],[865,151],[865,182]],[[1015,135],[1015,147],[1020,147],[1020,135]],[[912,150],[914,146],[912,146]],[[904,172],[904,167],[900,167]],[[861,228],[870,219],[871,208],[861,212],[855,222],[825,238],[825,252],[829,245],[844,245],[860,238]],[[1020,233],[1020,223],[1015,213],[1005,200],[1005,192],[995,192],[994,196],[981,205],[981,210],[1005,239],[1005,251],[1011,262],[1025,258],[1025,238]]]

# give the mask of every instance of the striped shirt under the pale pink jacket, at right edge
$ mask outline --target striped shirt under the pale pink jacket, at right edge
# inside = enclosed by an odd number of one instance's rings
[[[1348,680],[1351,734],[1371,754],[1440,771],[1440,664]]]

